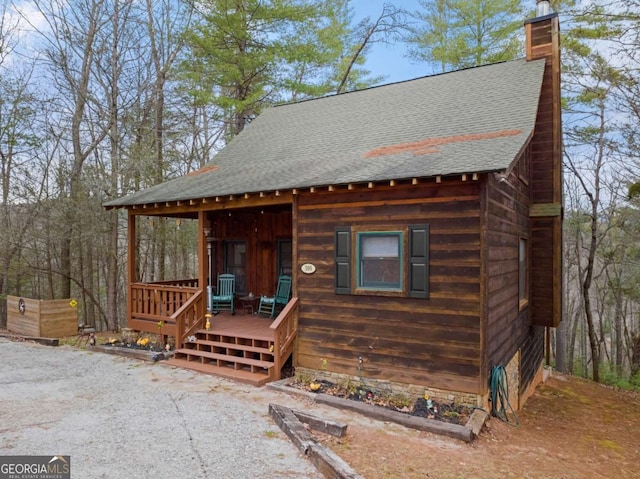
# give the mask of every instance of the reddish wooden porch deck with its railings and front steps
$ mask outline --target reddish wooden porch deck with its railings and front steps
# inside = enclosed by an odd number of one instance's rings
[[[275,319],[240,305],[222,311],[205,328],[206,294],[191,286],[132,285],[135,305],[130,327],[175,338],[169,363],[261,386],[282,377],[298,331],[298,298]]]

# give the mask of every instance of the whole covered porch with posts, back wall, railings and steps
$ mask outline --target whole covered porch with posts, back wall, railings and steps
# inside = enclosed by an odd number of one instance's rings
[[[293,274],[291,204],[230,209],[220,203],[206,211],[129,210],[127,325],[158,334],[163,342],[173,338],[171,363],[176,366],[262,385],[281,378],[293,352],[298,299],[293,291],[289,303],[271,319],[245,308],[242,298],[253,293],[257,307],[261,294],[275,294],[279,275]],[[154,275],[140,265],[137,227],[140,218],[154,215],[180,218],[183,228],[184,220],[191,220],[197,234],[192,248],[197,254],[195,277],[139,280]],[[219,312],[207,330],[207,291],[215,291],[216,278],[223,273],[235,277],[235,314]]]

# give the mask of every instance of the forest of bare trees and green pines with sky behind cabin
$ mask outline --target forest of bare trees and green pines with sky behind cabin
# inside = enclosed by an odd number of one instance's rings
[[[126,212],[264,108],[524,56],[534,0],[0,0],[0,327],[6,295],[124,326]],[[553,365],[640,387],[640,1],[554,1],[561,24],[565,311]],[[374,9],[370,7],[369,10]],[[147,282],[196,276],[196,224],[139,226]]]

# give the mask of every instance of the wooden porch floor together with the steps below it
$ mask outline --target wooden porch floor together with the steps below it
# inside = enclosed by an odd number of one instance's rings
[[[272,322],[255,314],[221,312],[211,318],[211,329],[197,330],[168,363],[262,386],[276,378]]]

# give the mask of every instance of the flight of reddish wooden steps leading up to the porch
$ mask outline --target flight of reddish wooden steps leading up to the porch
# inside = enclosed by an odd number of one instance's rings
[[[169,364],[222,376],[255,386],[273,380],[271,342],[262,336],[243,337],[198,330],[194,341],[176,349]]]

